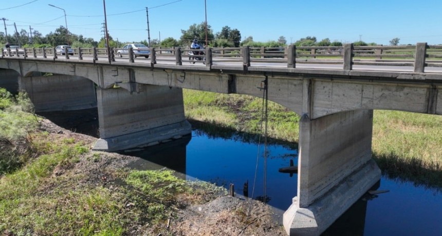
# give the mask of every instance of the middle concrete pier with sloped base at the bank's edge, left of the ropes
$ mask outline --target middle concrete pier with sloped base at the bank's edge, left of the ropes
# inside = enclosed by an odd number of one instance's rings
[[[97,89],[100,139],[94,150],[143,147],[190,134],[182,89],[145,85],[144,92]]]

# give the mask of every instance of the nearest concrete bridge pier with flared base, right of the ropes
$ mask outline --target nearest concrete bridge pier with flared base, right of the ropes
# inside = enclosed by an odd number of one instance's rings
[[[319,235],[380,180],[371,159],[373,110],[300,121],[298,195],[284,213],[289,235]]]

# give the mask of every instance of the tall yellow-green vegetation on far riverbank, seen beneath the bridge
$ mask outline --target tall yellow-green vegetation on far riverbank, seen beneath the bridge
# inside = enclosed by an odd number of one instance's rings
[[[184,95],[187,119],[197,128],[215,124],[224,127],[222,132],[247,133],[252,136],[248,139],[257,140],[261,98],[195,90],[184,90]],[[270,101],[268,110],[268,136],[296,146],[299,115]],[[383,174],[442,189],[442,116],[375,110],[372,150]]]

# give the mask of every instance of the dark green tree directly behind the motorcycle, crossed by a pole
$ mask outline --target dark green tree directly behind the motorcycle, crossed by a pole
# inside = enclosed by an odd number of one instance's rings
[[[210,25],[207,25],[207,40],[213,40],[215,37]],[[193,24],[188,30],[181,30],[180,44],[182,46],[190,46],[192,40],[196,38],[199,44],[208,45],[206,42],[206,23],[202,22],[199,25]]]

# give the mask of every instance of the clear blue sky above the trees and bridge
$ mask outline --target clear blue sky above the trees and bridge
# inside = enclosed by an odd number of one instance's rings
[[[63,10],[48,4],[66,11],[70,32],[96,41],[103,36],[102,0],[2,0],[0,18],[8,19],[8,34],[14,32],[15,22],[19,31],[29,32],[30,25],[46,35],[65,26]],[[284,36],[287,43],[294,43],[316,36],[318,41],[328,37],[342,43],[362,40],[389,45],[398,37],[399,44],[442,44],[440,0],[206,0],[206,6],[207,22],[214,33],[229,26],[240,30],[242,40],[252,36],[254,41],[267,42]],[[145,7],[149,8],[151,40],[178,40],[181,29],[205,21],[204,0],[107,0],[107,28],[114,40],[148,39]],[[4,32],[3,25],[0,31]]]

